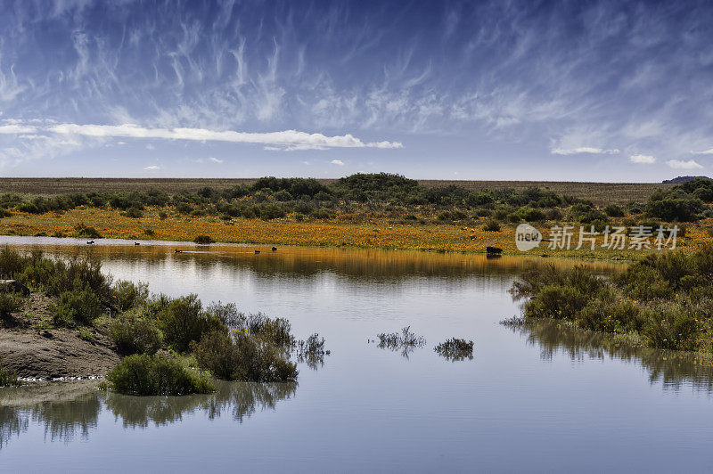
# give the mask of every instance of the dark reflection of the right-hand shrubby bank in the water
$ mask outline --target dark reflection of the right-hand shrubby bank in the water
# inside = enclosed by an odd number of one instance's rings
[[[539,347],[540,356],[546,361],[556,354],[577,362],[619,359],[640,364],[651,383],[660,382],[666,390],[691,387],[699,392],[713,392],[713,360],[708,357],[636,346],[625,337],[581,331],[557,321],[541,320],[510,327],[526,336],[530,345]]]

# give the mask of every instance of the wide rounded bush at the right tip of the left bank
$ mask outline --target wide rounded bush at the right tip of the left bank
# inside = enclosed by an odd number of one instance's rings
[[[297,364],[278,347],[255,335],[234,331],[205,334],[191,344],[201,369],[217,378],[253,382],[285,382],[297,379]]]

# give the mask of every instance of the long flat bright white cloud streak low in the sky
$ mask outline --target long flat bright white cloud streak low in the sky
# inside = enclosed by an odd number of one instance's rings
[[[259,143],[284,150],[312,150],[326,148],[403,148],[399,142],[362,142],[353,135],[327,136],[308,134],[297,130],[282,132],[248,133],[227,130],[218,132],[205,128],[147,128],[133,124],[78,125],[59,124],[46,131],[61,135],[93,137],[163,138],[167,140],[192,140],[199,142]]]

